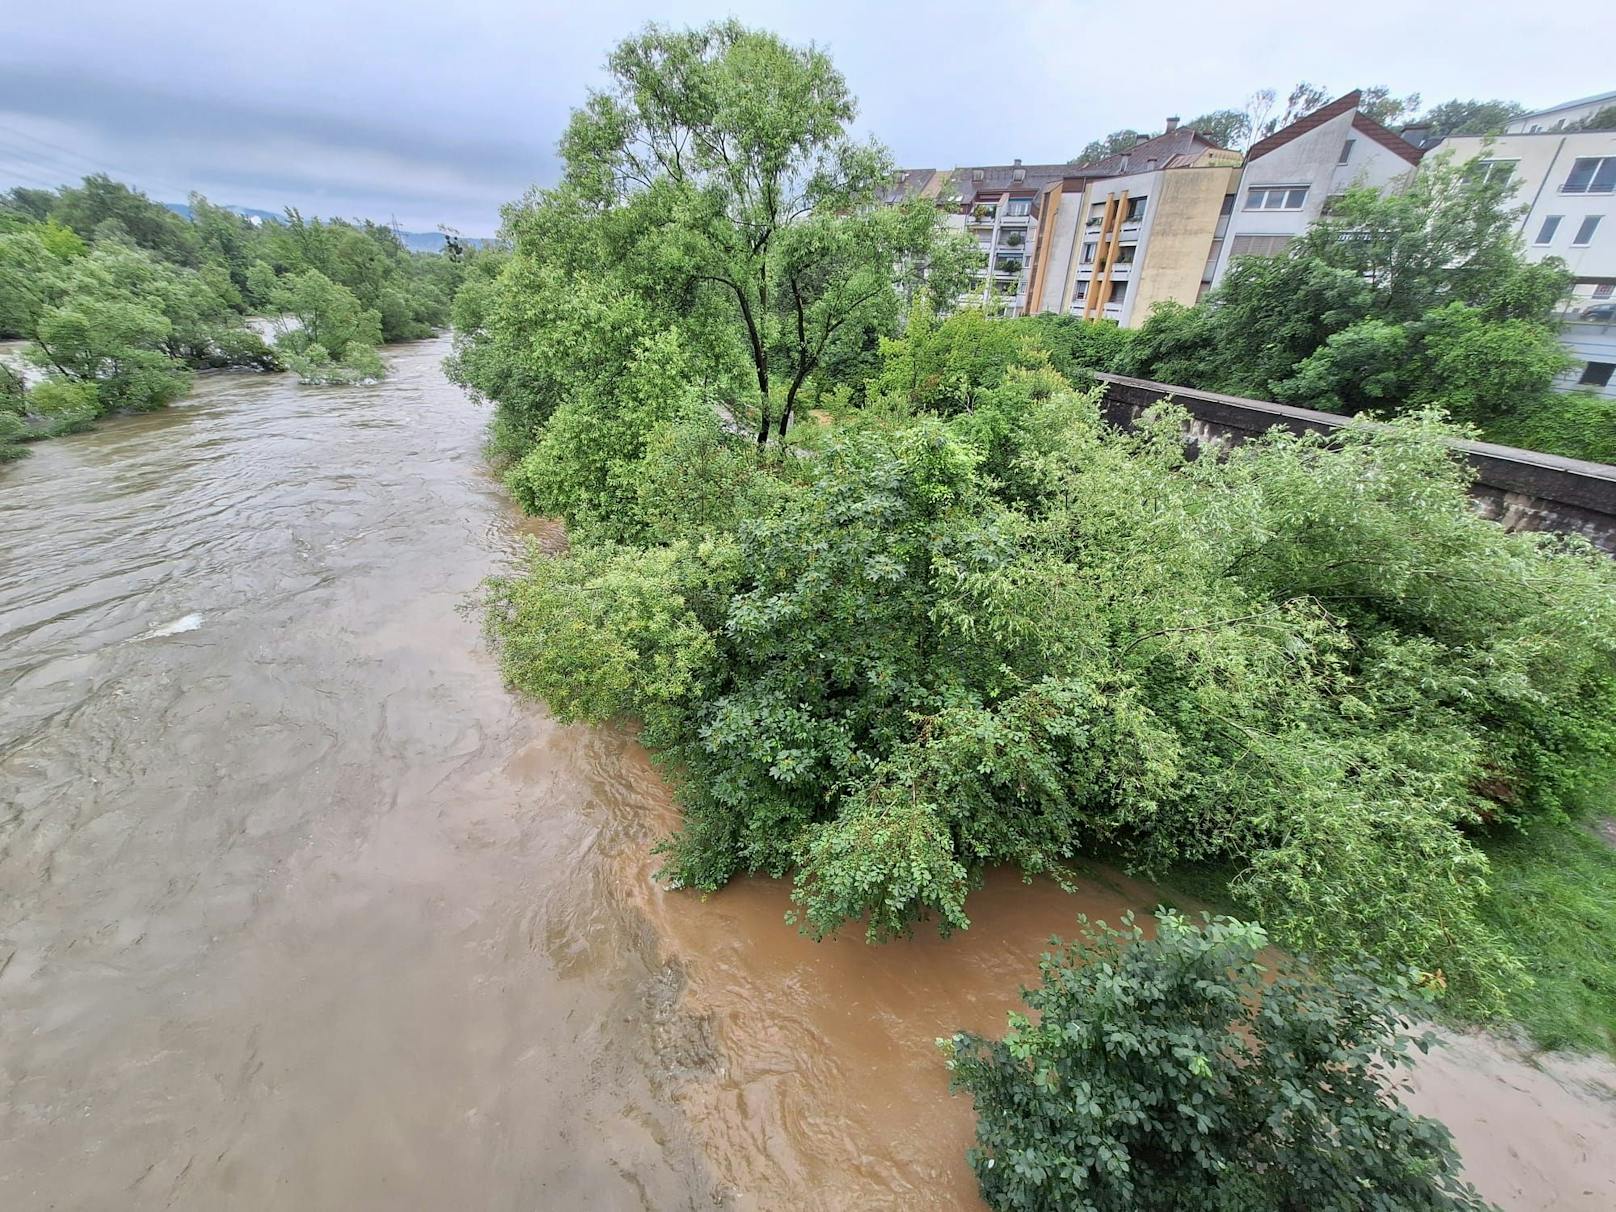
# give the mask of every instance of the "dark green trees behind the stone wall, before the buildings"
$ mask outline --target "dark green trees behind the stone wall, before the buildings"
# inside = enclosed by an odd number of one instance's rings
[[[1616,462],[1616,401],[1556,391],[1572,365],[1556,310],[1569,275],[1521,255],[1509,183],[1427,163],[1398,194],[1361,187],[1280,257],[1243,257],[1201,304],[1138,330],[1031,325],[1075,381],[1139,375],[1325,412],[1441,409],[1506,444]]]

